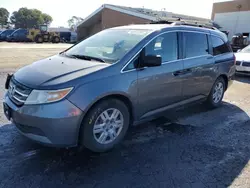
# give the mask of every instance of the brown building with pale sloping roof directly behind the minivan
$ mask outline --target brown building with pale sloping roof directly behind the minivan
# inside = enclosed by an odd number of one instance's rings
[[[209,22],[209,19],[175,14],[166,11],[154,11],[145,8],[131,8],[104,4],[81,22],[77,27],[78,40],[87,38],[103,29],[128,25],[144,24],[159,20],[161,17],[182,18]]]

